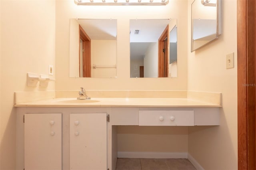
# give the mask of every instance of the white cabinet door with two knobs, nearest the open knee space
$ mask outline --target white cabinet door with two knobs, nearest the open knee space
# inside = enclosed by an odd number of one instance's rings
[[[106,113],[70,114],[70,170],[106,169]]]

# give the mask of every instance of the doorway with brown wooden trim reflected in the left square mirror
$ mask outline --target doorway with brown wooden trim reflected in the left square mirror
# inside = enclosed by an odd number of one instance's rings
[[[91,39],[79,25],[79,77],[91,77]]]

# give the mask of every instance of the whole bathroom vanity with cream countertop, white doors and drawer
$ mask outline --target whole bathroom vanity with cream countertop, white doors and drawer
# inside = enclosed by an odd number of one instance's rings
[[[220,104],[186,98],[56,98],[17,103],[17,169],[109,169],[117,127],[220,125]]]

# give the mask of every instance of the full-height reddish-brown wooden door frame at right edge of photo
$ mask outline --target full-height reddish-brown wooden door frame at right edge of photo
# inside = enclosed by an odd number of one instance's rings
[[[237,1],[238,170],[256,169],[256,2]]]

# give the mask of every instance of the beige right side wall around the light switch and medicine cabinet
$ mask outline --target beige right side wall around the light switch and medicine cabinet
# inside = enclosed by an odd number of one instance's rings
[[[191,17],[188,2],[188,19]],[[190,28],[190,20],[188,20]],[[190,47],[190,29],[188,29]],[[204,169],[237,169],[237,42],[236,0],[222,0],[222,35],[190,53],[188,90],[222,93],[220,126],[189,127],[188,152]],[[234,52],[233,69],[226,69],[226,54]]]

